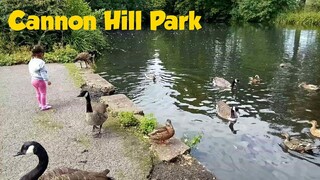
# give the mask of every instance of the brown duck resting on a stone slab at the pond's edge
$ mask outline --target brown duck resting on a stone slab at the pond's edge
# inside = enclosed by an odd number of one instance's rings
[[[151,140],[156,143],[165,143],[174,135],[175,131],[171,120],[168,119],[164,127],[160,127],[148,134]]]

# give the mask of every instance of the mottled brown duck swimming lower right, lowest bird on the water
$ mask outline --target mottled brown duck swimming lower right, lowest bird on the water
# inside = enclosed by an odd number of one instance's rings
[[[303,142],[299,139],[291,139],[288,133],[282,133],[283,137],[285,137],[283,144],[290,150],[297,151],[300,153],[311,153],[312,149],[317,147],[312,147],[310,143]]]

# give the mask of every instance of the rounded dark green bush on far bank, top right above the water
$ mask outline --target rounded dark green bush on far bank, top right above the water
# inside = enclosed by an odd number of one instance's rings
[[[296,0],[238,0],[231,14],[236,20],[266,22],[296,7]]]

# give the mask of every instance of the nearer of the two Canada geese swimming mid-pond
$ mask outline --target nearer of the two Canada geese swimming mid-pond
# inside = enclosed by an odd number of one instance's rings
[[[235,106],[232,108],[223,101],[218,101],[216,105],[217,115],[228,121],[237,121],[239,109]]]

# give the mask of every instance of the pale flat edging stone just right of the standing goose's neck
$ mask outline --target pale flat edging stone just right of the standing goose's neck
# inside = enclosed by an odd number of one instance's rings
[[[134,112],[143,115],[142,109],[138,108],[126,95],[114,94],[111,96],[102,96],[101,101],[109,105],[112,112]]]

